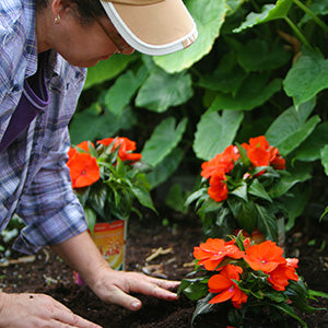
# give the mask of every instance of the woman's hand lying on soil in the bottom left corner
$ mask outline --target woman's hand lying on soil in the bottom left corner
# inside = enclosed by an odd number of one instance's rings
[[[101,328],[44,294],[0,293],[1,328]]]

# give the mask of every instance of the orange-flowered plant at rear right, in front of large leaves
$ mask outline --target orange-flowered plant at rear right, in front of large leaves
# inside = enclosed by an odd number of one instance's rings
[[[279,197],[289,189],[279,183],[288,173],[285,160],[265,136],[229,145],[201,168],[201,186],[186,203],[196,201],[207,236],[235,229],[253,234],[258,229],[267,238],[278,239],[277,218],[284,215]]]

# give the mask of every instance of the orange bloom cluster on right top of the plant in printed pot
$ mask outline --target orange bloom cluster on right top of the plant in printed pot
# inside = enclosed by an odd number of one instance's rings
[[[115,140],[115,142],[114,142]],[[118,138],[106,138],[103,140],[98,140],[97,143],[104,144],[104,145],[109,145],[110,143],[114,142],[113,145],[113,151],[116,150],[119,147],[118,150],[118,156],[120,160],[124,161],[131,161],[131,162],[137,162],[140,161],[142,155],[139,153],[132,153],[132,151],[136,150],[136,142],[131,141],[128,138],[125,137],[118,137]]]

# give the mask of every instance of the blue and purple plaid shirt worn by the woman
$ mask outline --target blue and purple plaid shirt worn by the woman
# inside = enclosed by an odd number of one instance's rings
[[[34,0],[0,1],[0,141],[20,101],[24,79],[37,70]],[[85,69],[50,51],[46,85],[50,104],[0,153],[0,231],[14,213],[25,227],[14,248],[31,254],[86,230],[66,165],[68,124]]]

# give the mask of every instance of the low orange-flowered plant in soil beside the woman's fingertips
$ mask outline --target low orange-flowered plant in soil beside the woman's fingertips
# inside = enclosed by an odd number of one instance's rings
[[[288,314],[306,327],[295,308],[318,309],[308,305],[315,292],[297,276],[298,259],[284,258],[283,249],[272,241],[254,244],[239,232],[230,242],[208,238],[194,248],[194,256],[196,270],[178,291],[199,300],[192,321],[199,314],[221,311],[227,325],[238,326],[246,315],[262,314],[267,307],[272,320]]]

